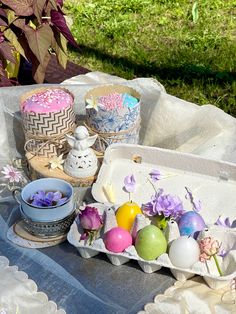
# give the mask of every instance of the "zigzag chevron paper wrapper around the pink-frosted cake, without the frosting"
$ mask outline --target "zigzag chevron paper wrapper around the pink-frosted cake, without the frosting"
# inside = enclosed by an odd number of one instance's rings
[[[72,106],[59,112],[22,112],[22,120],[28,152],[51,158],[69,151],[63,135],[69,134],[75,127]]]

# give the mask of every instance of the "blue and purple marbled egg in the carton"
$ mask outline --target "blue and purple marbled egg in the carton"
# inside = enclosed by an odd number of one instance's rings
[[[185,212],[178,221],[180,235],[191,235],[206,227],[202,216],[195,211]]]

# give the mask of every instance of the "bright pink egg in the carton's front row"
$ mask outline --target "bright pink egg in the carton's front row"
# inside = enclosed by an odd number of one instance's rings
[[[120,227],[115,227],[107,231],[103,241],[107,250],[114,253],[123,252],[127,247],[132,245],[130,233]]]

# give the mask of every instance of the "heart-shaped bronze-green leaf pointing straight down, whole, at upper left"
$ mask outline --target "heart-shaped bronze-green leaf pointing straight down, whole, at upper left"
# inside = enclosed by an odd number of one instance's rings
[[[43,24],[38,29],[34,30],[29,26],[25,27],[25,36],[28,44],[39,63],[44,64],[44,59],[51,46],[53,32],[48,24]]]

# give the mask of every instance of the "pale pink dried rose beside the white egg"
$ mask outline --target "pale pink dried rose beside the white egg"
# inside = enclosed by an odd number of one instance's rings
[[[212,237],[206,237],[199,242],[199,248],[201,251],[200,261],[204,262],[219,252],[220,244]]]

